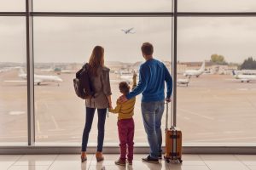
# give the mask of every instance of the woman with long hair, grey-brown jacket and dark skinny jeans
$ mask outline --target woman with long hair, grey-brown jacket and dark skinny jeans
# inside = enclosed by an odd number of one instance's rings
[[[109,69],[104,66],[104,48],[96,46],[90,56],[89,61],[90,82],[94,91],[91,99],[85,100],[86,105],[86,121],[84,126],[81,161],[86,161],[86,148],[90,133],[91,124],[93,122],[94,113],[98,112],[98,138],[96,160],[103,161],[102,147],[104,140],[104,127],[107,115],[107,109],[112,108],[111,104],[111,88],[109,82]]]

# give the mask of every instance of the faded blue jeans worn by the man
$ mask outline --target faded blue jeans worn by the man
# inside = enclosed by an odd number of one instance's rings
[[[148,135],[150,157],[158,159],[161,153],[161,119],[165,110],[165,101],[142,102],[143,124]]]

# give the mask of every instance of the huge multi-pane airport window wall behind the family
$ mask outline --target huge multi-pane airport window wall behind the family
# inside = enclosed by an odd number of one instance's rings
[[[26,3],[33,3],[29,13]],[[79,146],[84,100],[74,93],[74,72],[102,45],[114,105],[118,83],[131,82],[143,62],[143,42],[152,42],[155,57],[177,76],[172,111],[184,145],[253,143],[255,9],[254,0],[0,0],[0,146],[27,139],[33,145],[33,129],[38,146]],[[26,70],[34,72],[29,91]],[[140,98],[135,143],[145,145]],[[106,145],[119,141],[116,121],[109,113]],[[162,122],[164,127],[165,116]],[[89,145],[96,144],[96,123],[95,116]]]

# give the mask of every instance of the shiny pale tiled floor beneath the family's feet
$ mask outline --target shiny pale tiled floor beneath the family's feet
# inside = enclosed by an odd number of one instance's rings
[[[141,161],[145,155],[135,155],[132,166],[116,166],[119,155],[104,155],[96,162],[93,155],[80,162],[79,155],[0,155],[0,170],[256,170],[256,156],[250,155],[183,155],[183,164],[150,164]]]

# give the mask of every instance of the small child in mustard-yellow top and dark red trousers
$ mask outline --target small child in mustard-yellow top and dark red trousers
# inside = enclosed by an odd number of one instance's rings
[[[120,93],[126,95],[130,91],[130,87],[127,82],[119,83]],[[134,105],[135,98],[129,99],[124,103],[119,103],[119,100],[116,102],[116,107],[114,109],[110,109],[109,111],[112,113],[118,113],[118,129],[119,129],[119,146],[120,146],[120,157],[118,161],[114,163],[116,165],[126,165],[126,144],[128,145],[128,163],[132,165],[133,159],[133,137],[134,137],[134,121],[133,121],[133,113],[134,113]]]

